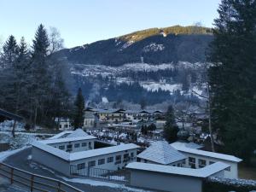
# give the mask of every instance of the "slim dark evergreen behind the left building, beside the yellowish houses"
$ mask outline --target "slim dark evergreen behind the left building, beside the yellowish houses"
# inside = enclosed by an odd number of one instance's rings
[[[78,129],[81,128],[84,123],[84,96],[82,94],[81,88],[79,88],[74,106],[73,127],[74,129]]]

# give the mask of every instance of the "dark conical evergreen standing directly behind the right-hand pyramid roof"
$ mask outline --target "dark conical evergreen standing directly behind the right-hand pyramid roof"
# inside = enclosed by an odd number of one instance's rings
[[[174,110],[169,106],[166,112],[166,125],[164,126],[163,137],[167,142],[173,143],[177,141],[178,127],[175,121]]]

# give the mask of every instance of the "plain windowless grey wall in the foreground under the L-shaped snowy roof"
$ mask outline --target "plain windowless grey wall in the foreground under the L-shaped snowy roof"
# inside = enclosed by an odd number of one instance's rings
[[[201,192],[202,179],[160,172],[130,170],[131,185],[170,192]]]

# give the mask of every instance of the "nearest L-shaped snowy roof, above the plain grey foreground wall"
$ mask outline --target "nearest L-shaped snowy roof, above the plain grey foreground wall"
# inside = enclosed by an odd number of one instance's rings
[[[143,170],[148,172],[162,172],[162,173],[168,173],[168,174],[174,174],[174,175],[202,177],[202,178],[210,177],[213,174],[217,172],[221,172],[228,167],[229,167],[228,165],[222,162],[213,163],[212,165],[205,166],[201,169],[191,169],[191,168],[184,168],[184,167],[177,167],[177,166],[162,166],[157,164],[140,163],[140,162],[129,163],[126,166],[126,168],[128,169]]]

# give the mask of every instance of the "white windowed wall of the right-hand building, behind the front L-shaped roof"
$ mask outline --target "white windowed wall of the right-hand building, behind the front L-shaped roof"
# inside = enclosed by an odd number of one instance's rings
[[[237,178],[238,177],[238,168],[237,168],[237,163],[233,162],[233,161],[228,161],[228,160],[219,160],[217,158],[211,158],[211,157],[206,157],[206,156],[202,156],[199,154],[189,154],[183,151],[180,151],[182,154],[185,154],[186,156],[188,156],[188,158],[186,159],[186,166],[189,167],[189,157],[193,157],[195,158],[195,168],[200,168],[199,167],[199,160],[206,160],[207,161],[207,166],[210,165],[210,161],[212,162],[223,162],[227,165],[230,166],[230,171],[224,171],[224,177],[227,178]]]

